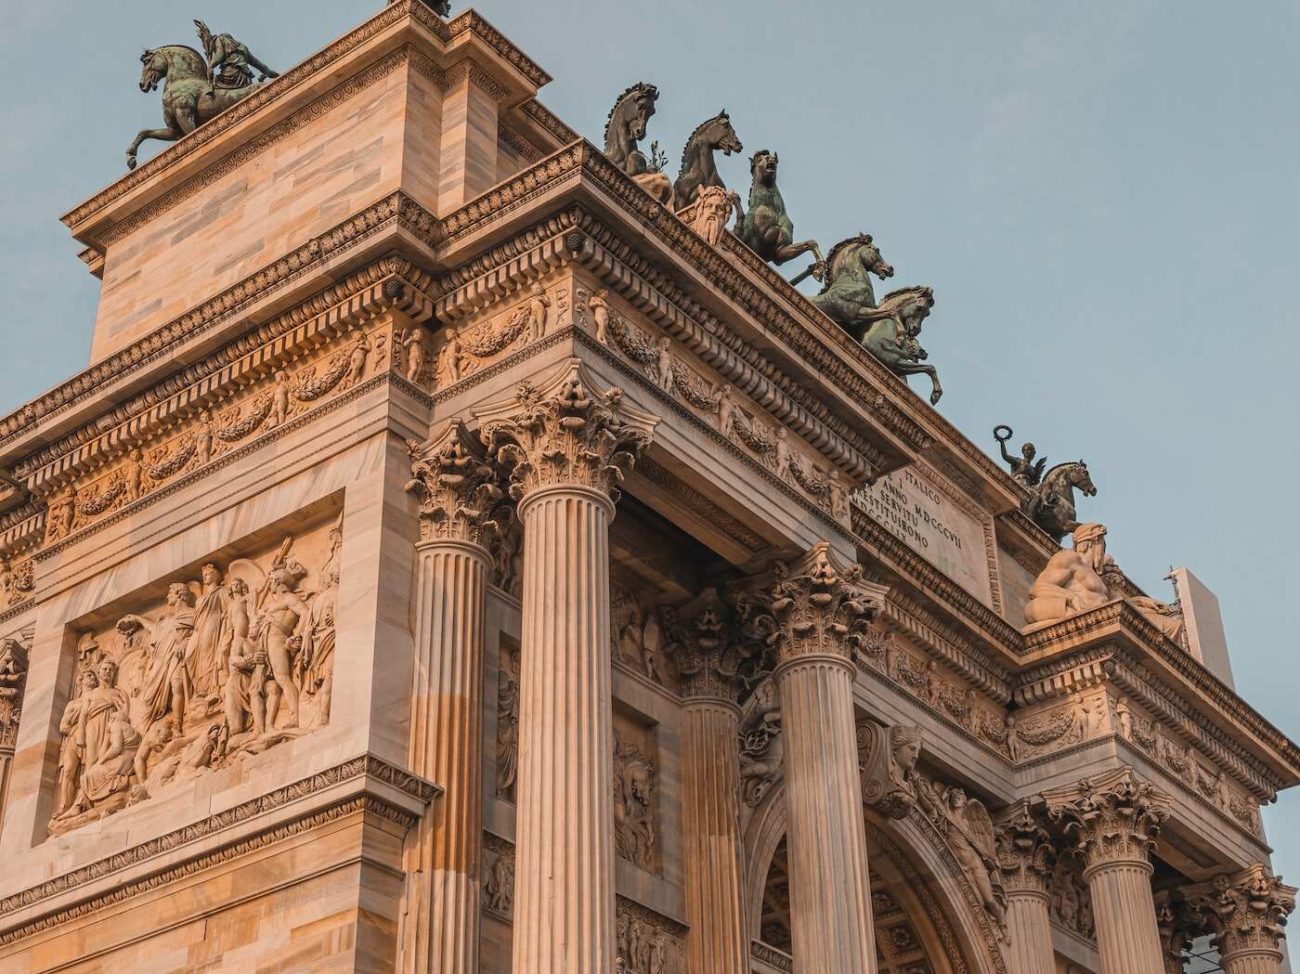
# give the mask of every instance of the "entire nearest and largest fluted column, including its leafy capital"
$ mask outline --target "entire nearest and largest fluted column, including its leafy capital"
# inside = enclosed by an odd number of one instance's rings
[[[615,965],[610,520],[658,419],[577,362],[478,414],[524,525],[515,974]]]

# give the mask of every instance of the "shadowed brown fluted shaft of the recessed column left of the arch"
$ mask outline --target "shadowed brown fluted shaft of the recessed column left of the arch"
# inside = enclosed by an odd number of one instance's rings
[[[740,709],[688,698],[682,709],[686,974],[748,974],[741,910]]]

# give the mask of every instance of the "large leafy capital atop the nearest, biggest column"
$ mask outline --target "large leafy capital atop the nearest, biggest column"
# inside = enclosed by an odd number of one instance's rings
[[[541,386],[524,382],[514,395],[476,414],[482,440],[511,467],[516,501],[550,486],[585,486],[618,499],[618,486],[650,445],[659,417],[603,393],[577,359]]]

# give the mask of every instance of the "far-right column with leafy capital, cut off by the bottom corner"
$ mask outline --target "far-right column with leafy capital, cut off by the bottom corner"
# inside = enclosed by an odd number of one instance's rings
[[[1278,974],[1287,917],[1296,889],[1268,866],[1251,866],[1197,887],[1192,902],[1214,934],[1225,974]]]

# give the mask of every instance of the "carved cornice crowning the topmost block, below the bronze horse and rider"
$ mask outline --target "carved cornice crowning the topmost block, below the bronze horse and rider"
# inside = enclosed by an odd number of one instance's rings
[[[394,0],[370,20],[312,55],[198,127],[62,217],[73,235],[95,251],[116,226],[165,202],[181,187],[286,124],[322,95],[359,77],[385,57],[410,48],[439,74],[463,61],[490,64],[504,105],[520,108],[550,82],[537,64],[473,10],[443,22],[422,0]],[[520,111],[538,130],[555,127],[540,105]],[[550,122],[550,124],[549,124]],[[554,138],[554,134],[552,134]]]

